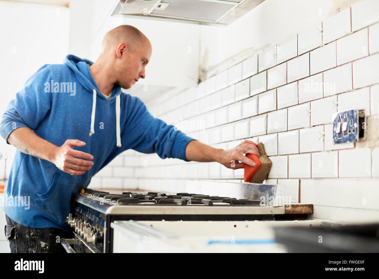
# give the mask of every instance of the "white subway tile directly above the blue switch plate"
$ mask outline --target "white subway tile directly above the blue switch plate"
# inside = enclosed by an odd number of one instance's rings
[[[365,87],[338,95],[338,112],[351,109],[364,109],[370,115],[370,88]]]

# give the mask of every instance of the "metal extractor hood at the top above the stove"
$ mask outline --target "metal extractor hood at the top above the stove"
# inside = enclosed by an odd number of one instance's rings
[[[265,0],[121,0],[112,16],[228,25]]]

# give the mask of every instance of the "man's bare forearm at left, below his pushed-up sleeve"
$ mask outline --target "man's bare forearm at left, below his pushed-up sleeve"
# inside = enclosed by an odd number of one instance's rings
[[[30,128],[20,127],[8,137],[8,142],[22,153],[53,162],[58,147],[37,136]]]

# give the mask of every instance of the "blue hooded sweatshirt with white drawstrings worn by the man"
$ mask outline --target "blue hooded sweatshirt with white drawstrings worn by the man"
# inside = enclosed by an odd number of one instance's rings
[[[141,99],[121,92],[117,85],[107,100],[91,76],[92,63],[67,55],[64,64],[43,65],[3,114],[0,133],[7,143],[14,129],[28,127],[57,146],[67,139],[81,140],[86,145],[74,149],[94,156],[90,170],[70,175],[49,161],[17,150],[3,210],[21,225],[69,230],[66,217],[71,196],[125,150],[188,161],[185,149],[194,139],[154,118]]]

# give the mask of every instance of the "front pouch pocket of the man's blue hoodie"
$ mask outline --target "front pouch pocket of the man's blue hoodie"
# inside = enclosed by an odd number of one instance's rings
[[[47,192],[36,193],[37,208],[49,215],[56,224],[65,225],[66,217],[70,213],[71,192],[78,183],[79,181],[64,173],[56,172]]]

